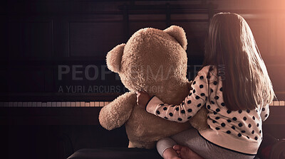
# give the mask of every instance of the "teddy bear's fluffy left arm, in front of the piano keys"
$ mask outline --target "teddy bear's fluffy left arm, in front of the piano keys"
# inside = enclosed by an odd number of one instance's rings
[[[108,130],[118,128],[128,121],[133,111],[133,106],[137,104],[135,92],[127,92],[110,104],[104,106],[99,114],[101,126]]]

